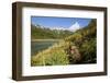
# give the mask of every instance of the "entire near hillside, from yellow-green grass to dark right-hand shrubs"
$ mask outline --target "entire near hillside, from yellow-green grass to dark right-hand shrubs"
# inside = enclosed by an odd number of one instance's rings
[[[32,57],[32,66],[96,63],[97,21]]]

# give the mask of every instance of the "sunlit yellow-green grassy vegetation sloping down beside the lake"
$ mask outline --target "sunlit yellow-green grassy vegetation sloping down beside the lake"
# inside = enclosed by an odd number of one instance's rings
[[[70,43],[61,42],[55,44],[48,49],[38,52],[32,57],[31,66],[64,66],[68,64],[69,60],[65,49],[68,48]]]

